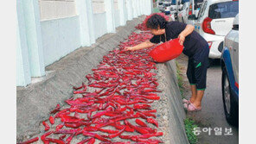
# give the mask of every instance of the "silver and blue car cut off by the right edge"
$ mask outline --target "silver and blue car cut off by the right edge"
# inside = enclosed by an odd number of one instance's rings
[[[238,124],[239,117],[239,16],[224,40],[221,53],[222,97],[227,122]]]

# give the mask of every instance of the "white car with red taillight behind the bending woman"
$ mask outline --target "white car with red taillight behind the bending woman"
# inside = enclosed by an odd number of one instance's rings
[[[207,0],[202,3],[198,17],[189,16],[189,19],[195,19],[195,31],[208,41],[209,58],[221,58],[224,38],[232,29],[238,12],[237,0]]]

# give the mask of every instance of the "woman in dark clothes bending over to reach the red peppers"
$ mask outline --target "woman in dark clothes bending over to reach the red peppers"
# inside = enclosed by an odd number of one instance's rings
[[[182,22],[167,22],[163,16],[157,14],[151,16],[146,22],[154,36],[150,41],[144,41],[134,47],[125,47],[134,51],[146,47],[152,47],[157,43],[179,38],[184,46],[182,53],[189,57],[187,77],[191,87],[192,96],[189,100],[183,99],[184,107],[188,111],[202,110],[202,97],[206,89],[206,77],[208,68],[208,42],[194,31],[192,25]]]

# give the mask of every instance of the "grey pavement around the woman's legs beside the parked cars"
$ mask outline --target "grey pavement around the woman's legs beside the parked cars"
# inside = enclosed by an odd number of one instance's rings
[[[189,98],[191,92],[189,90],[189,81],[186,77],[188,58],[182,54],[176,60],[179,66],[181,66],[182,78],[184,80],[183,86],[186,89],[184,96]],[[221,94],[221,73],[221,66],[218,62],[215,62],[214,66],[208,68],[207,89],[202,98],[202,111],[187,113],[187,116],[191,117],[201,130],[202,128],[213,128],[210,135],[208,132],[202,132],[198,135],[199,144],[239,143],[239,128],[230,126],[225,118]],[[222,128],[222,134],[215,135],[214,128]],[[232,128],[233,135],[224,135],[225,128]]]

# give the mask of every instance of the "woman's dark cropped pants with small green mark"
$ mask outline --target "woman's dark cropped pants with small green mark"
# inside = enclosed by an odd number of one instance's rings
[[[195,85],[198,91],[206,89],[208,54],[209,48],[207,46],[201,52],[189,57],[187,77],[190,85]]]

